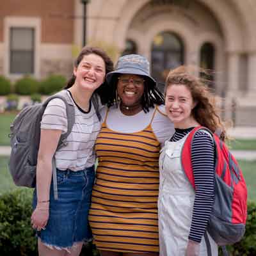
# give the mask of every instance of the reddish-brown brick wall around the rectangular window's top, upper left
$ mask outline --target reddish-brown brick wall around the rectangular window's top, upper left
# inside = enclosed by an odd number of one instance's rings
[[[0,42],[6,16],[40,17],[42,42],[72,44],[74,0],[0,0]]]

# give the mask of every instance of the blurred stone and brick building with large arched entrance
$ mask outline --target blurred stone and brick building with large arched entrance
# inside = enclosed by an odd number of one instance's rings
[[[87,42],[146,56],[160,82],[180,64],[214,70],[209,86],[236,103],[226,116],[256,126],[255,24],[254,0],[1,0],[0,74],[69,76],[86,25]]]

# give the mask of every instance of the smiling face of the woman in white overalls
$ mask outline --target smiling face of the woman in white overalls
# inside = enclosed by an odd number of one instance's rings
[[[195,107],[191,92],[184,84],[168,86],[165,97],[165,109],[168,118],[172,120],[175,128],[186,129],[198,125],[192,109]]]

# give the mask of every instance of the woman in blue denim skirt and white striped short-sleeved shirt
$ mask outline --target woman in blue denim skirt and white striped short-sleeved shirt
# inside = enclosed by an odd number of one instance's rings
[[[95,178],[93,147],[100,130],[97,100],[104,100],[105,76],[112,70],[113,62],[106,52],[95,47],[82,49],[67,90],[60,92],[67,104],[74,106],[75,122],[67,143],[58,150],[61,134],[70,129],[65,102],[52,99],[42,116],[31,216],[39,255],[78,256],[83,241],[92,239],[88,211]],[[52,186],[52,159],[56,163],[57,200]]]

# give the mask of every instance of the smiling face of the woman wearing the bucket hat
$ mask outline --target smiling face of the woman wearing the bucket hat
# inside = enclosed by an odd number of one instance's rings
[[[122,103],[127,107],[140,104],[144,93],[143,77],[123,74],[118,77],[117,93]]]

